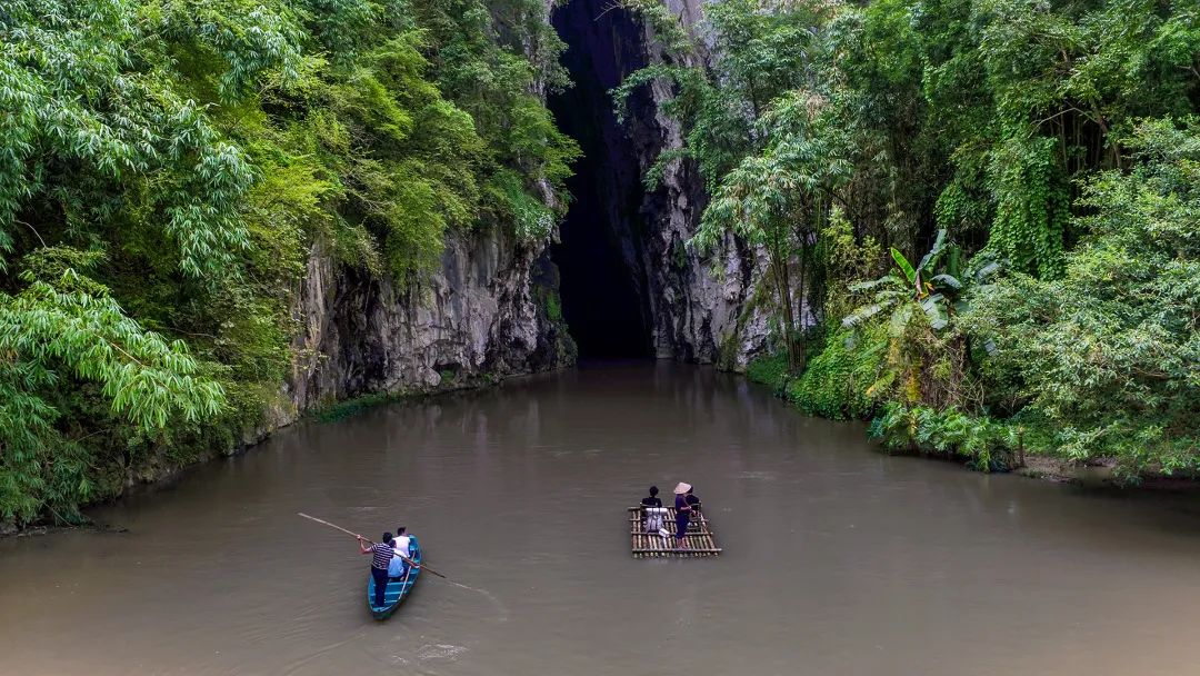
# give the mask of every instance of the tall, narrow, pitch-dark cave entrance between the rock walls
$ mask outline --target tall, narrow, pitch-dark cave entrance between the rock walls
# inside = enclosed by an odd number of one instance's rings
[[[560,241],[551,249],[563,317],[580,357],[650,357],[641,167],[608,94],[644,65],[641,29],[610,0],[571,0],[552,23],[568,44],[562,62],[575,85],[548,106],[583,150],[566,184],[572,203]]]

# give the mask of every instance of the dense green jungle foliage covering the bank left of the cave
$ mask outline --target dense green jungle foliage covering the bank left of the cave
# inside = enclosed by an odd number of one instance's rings
[[[278,405],[310,250],[401,288],[532,241],[577,154],[533,0],[0,4],[0,521]]]

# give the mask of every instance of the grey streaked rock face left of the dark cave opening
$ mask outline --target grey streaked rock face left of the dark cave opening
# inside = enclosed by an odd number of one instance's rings
[[[574,363],[552,310],[557,274],[544,246],[496,231],[450,235],[442,270],[406,291],[314,246],[295,297],[286,401],[266,427],[362,394],[456,389]]]

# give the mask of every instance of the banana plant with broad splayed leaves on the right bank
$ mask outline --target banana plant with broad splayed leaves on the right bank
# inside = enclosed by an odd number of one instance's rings
[[[920,307],[935,331],[944,329],[950,322],[952,301],[962,291],[962,282],[954,275],[932,274],[947,247],[946,231],[937,231],[932,249],[913,267],[905,255],[893,246],[892,259],[895,261],[895,268],[877,280],[851,285],[852,292],[874,291],[875,295],[870,305],[864,305],[846,316],[841,321],[842,325],[857,327],[880,312],[890,310],[888,333],[899,337],[916,309]]]

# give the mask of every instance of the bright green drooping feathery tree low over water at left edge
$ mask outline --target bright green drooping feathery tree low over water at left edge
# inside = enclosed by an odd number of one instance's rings
[[[196,423],[224,403],[180,341],[131,319],[79,269],[101,261],[71,249],[24,261],[16,295],[0,293],[0,516],[28,521],[43,508],[72,519],[95,491],[92,459],[59,427],[55,388],[92,382],[110,414],[154,435]]]

